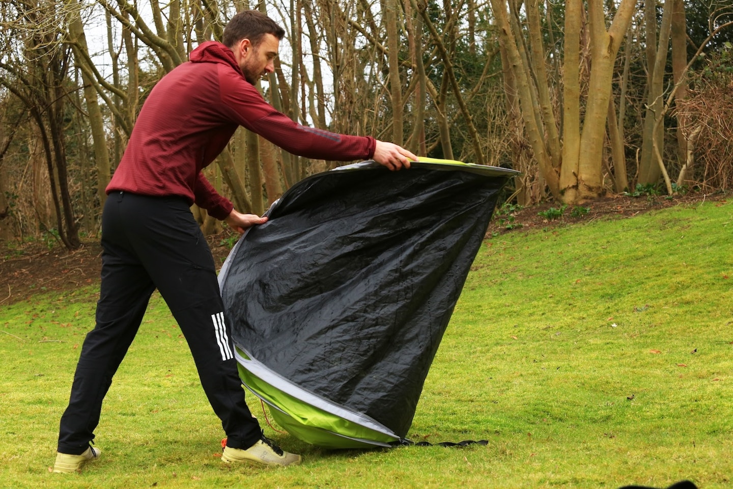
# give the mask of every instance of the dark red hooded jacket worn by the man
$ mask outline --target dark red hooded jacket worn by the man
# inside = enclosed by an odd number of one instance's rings
[[[309,128],[273,109],[244,79],[225,45],[202,43],[189,59],[158,81],[145,100],[107,194],[180,195],[226,218],[232,202],[216,193],[201,170],[239,125],[306,158],[352,161],[374,155],[374,138]]]

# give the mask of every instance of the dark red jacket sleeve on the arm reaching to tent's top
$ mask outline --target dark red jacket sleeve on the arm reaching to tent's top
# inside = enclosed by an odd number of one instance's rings
[[[257,89],[230,67],[220,67],[219,81],[226,117],[293,155],[333,161],[365,160],[374,156],[374,138],[300,125],[265,102]]]

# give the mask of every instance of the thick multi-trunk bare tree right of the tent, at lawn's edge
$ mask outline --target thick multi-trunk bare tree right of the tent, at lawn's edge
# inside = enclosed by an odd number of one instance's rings
[[[507,48],[507,64],[505,70],[513,70],[517,79],[517,91],[523,115],[525,130],[534,156],[539,163],[539,170],[553,196],[567,203],[579,203],[597,199],[603,195],[603,147],[605,126],[608,117],[608,106],[611,100],[611,82],[614,73],[616,54],[630,25],[634,9],[633,0],[622,0],[619,4],[611,27],[606,29],[603,2],[589,1],[587,18],[590,40],[590,56],[592,65],[589,72],[588,90],[582,111],[580,70],[581,61],[580,32],[582,25],[583,4],[578,0],[566,3],[565,45],[563,86],[565,92],[564,127],[562,134],[563,147],[561,158],[553,155],[558,145],[552,139],[554,117],[548,111],[545,100],[545,88],[538,84],[546,84],[546,79],[538,73],[545,73],[538,64],[544,63],[544,57],[526,56],[523,39],[517,39],[507,16],[507,7],[501,0],[491,0],[492,10],[496,18],[499,38]],[[511,5],[510,5],[511,7]],[[530,7],[531,10],[534,7]],[[514,10],[512,18],[517,17]],[[535,38],[532,29],[537,29],[536,22],[530,22],[529,37]],[[533,46],[537,50],[539,46]],[[545,100],[544,103],[542,100]],[[544,105],[543,105],[544,104]],[[545,109],[542,107],[545,106]],[[581,155],[583,156],[581,158]],[[559,167],[557,165],[560,165]]]

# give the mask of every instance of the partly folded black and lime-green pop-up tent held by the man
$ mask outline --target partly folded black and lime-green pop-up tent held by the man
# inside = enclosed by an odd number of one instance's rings
[[[293,185],[219,274],[240,377],[289,433],[390,446],[517,172],[421,158],[341,166]]]

